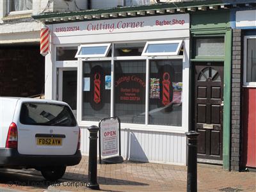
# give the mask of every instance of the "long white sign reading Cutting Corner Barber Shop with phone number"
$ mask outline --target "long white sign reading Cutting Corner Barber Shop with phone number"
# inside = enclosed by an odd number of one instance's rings
[[[52,31],[55,36],[67,36],[174,29],[189,29],[189,14],[68,22],[54,24]]]

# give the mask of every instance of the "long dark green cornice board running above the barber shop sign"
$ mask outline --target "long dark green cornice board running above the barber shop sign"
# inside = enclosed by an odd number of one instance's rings
[[[251,2],[251,1],[250,1]],[[249,3],[250,3],[249,2]],[[253,2],[253,1],[252,1]],[[61,12],[61,13],[42,13],[39,15],[32,15],[33,19],[49,19],[54,17],[72,17],[72,16],[84,16],[84,15],[100,15],[108,13],[122,13],[122,12],[138,12],[147,10],[161,10],[161,9],[177,9],[177,8],[188,8],[197,6],[214,6],[221,4],[236,4],[235,0],[232,1],[188,1],[188,2],[177,2],[177,3],[157,3],[149,4],[145,6],[129,6],[129,7],[118,7],[118,8],[108,8],[101,10],[84,10],[78,12]]]

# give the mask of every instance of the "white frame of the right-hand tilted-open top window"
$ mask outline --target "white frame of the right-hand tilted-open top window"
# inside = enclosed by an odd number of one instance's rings
[[[147,42],[141,56],[177,56],[179,55],[180,49],[182,47],[183,40],[169,40],[169,41],[154,41],[154,42]],[[154,45],[154,44],[177,44],[178,47],[175,52],[146,52],[148,49],[148,45]]]

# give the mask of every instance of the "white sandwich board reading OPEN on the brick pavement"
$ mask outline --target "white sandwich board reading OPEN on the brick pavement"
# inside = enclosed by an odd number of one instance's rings
[[[120,119],[103,118],[99,122],[99,163],[113,164],[124,162],[121,156]]]

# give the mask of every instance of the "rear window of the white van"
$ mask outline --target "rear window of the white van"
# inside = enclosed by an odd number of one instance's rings
[[[76,118],[68,106],[43,102],[24,102],[20,123],[25,125],[76,126]]]

